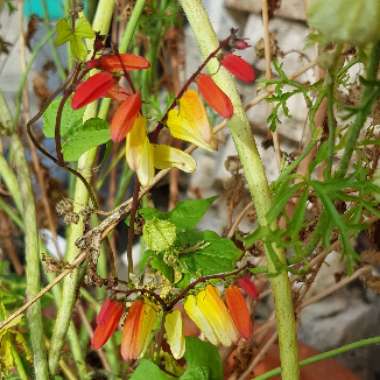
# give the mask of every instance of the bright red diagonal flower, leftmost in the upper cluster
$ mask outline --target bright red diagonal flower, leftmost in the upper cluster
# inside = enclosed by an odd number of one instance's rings
[[[96,99],[106,96],[113,85],[114,80],[110,73],[97,73],[91,76],[75,90],[71,107],[76,110]]]

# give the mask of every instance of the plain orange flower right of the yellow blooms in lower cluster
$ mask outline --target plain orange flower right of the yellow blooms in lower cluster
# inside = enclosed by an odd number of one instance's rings
[[[226,303],[240,335],[249,339],[253,333],[253,324],[245,299],[237,286],[232,285],[226,290]]]

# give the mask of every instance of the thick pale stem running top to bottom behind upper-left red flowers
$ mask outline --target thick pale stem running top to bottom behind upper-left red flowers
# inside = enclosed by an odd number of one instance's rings
[[[102,35],[108,33],[115,2],[113,0],[100,0],[93,22],[93,29]],[[84,113],[83,120],[96,116],[96,103],[90,104]],[[78,161],[77,170],[86,178],[91,180],[91,169],[96,156],[96,149],[91,149],[84,153]],[[82,181],[75,182],[74,190],[74,211],[79,212],[88,205],[89,194]],[[75,245],[76,240],[83,235],[83,220],[70,226],[65,259],[71,262],[78,254],[79,250]],[[77,297],[78,284],[80,279],[80,268],[74,270],[63,282],[62,304],[58,309],[56,323],[54,325],[53,336],[49,351],[49,367],[52,374],[55,373],[61,354],[64,338],[70,324],[71,314]]]

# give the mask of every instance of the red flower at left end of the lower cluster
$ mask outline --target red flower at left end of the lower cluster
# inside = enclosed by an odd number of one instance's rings
[[[119,325],[124,311],[124,304],[107,298],[96,317],[96,329],[91,339],[91,347],[98,350],[102,347]]]

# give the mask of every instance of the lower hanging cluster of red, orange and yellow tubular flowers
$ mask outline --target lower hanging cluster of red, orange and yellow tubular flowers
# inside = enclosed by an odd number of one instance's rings
[[[239,281],[238,281],[239,283]],[[243,289],[251,295],[254,283],[243,278]],[[257,297],[257,290],[255,290]],[[116,331],[124,313],[122,302],[106,299],[96,318],[96,329],[91,341],[94,349],[99,349]],[[236,285],[225,290],[225,301],[213,285],[207,285],[196,295],[190,294],[184,301],[187,316],[196,324],[205,339],[214,345],[230,346],[239,337],[250,339],[253,323],[245,298]],[[124,360],[141,358],[148,348],[154,331],[160,326],[162,310],[150,300],[137,299],[132,302],[122,329],[121,356]],[[166,341],[175,359],[185,353],[183,315],[173,309],[165,315]]]

